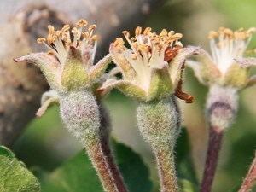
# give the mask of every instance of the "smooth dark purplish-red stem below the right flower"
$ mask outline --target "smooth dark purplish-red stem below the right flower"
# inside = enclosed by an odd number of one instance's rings
[[[212,127],[210,128],[207,160],[201,183],[201,192],[210,192],[212,189],[212,181],[218,164],[218,154],[220,151],[222,137],[223,131],[217,131],[217,129]]]

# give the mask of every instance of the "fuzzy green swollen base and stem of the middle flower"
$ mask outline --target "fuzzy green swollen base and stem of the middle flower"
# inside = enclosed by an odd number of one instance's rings
[[[173,148],[179,134],[180,114],[175,98],[140,102],[137,107],[138,127],[150,143],[156,157],[161,192],[177,192]]]

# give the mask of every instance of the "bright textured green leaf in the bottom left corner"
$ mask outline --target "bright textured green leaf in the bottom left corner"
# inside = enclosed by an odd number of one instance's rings
[[[39,192],[40,184],[8,148],[0,146],[0,191]]]

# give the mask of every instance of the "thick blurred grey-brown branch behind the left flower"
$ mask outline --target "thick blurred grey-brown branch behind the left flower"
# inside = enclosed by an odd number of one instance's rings
[[[15,64],[14,57],[41,51],[36,39],[46,37],[47,26],[61,28],[80,18],[96,24],[101,39],[96,58],[108,51],[108,45],[121,31],[142,24],[157,0],[32,0],[1,1],[0,12],[0,144],[10,145],[34,117],[41,94],[49,89],[38,68],[27,63]],[[53,9],[55,8],[55,9]],[[16,11],[17,10],[17,11]],[[15,12],[15,15],[10,13]]]

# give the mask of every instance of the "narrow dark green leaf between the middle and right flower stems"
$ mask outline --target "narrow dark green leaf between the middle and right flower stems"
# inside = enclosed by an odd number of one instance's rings
[[[176,154],[177,176],[180,183],[182,183],[181,186],[193,185],[193,188],[195,188],[199,183],[195,173],[195,166],[191,156],[189,134],[186,128],[183,128],[180,137],[177,139]],[[186,190],[183,189],[183,191],[199,191],[198,189],[192,190],[193,188],[186,187]]]

